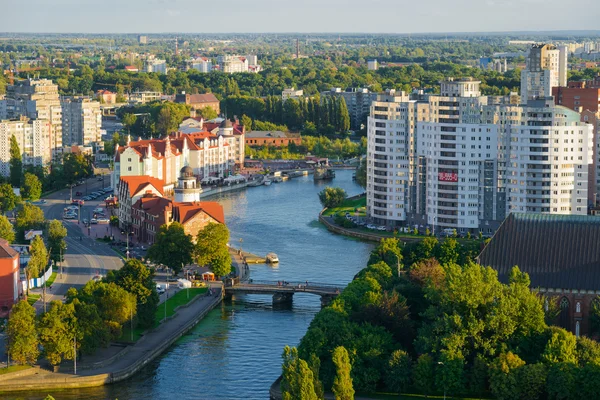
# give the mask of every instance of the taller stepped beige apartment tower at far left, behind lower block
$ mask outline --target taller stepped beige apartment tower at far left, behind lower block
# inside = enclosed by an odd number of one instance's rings
[[[26,116],[50,122],[49,145],[54,158],[60,158],[62,143],[62,108],[58,85],[49,79],[26,79],[6,88],[6,97],[0,106],[0,119]]]

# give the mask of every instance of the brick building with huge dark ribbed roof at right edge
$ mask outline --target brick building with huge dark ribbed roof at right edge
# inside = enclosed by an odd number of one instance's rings
[[[599,222],[595,216],[512,213],[477,261],[503,282],[515,265],[527,272],[532,290],[558,302],[555,324],[587,335],[590,309],[600,302]]]

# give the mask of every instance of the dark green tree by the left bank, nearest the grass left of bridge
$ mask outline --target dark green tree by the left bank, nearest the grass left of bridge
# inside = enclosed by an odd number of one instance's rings
[[[138,322],[144,328],[154,325],[158,308],[159,298],[153,277],[154,272],[135,258],[127,260],[121,269],[110,271],[107,275],[108,282],[114,282],[135,295]]]

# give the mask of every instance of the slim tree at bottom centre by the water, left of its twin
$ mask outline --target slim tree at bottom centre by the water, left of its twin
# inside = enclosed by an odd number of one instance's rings
[[[313,373],[295,347],[283,349],[281,393],[284,400],[317,400]]]

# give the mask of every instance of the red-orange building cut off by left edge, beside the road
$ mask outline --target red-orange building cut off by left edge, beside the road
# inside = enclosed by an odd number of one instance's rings
[[[19,300],[19,253],[0,239],[0,317],[7,317]]]

